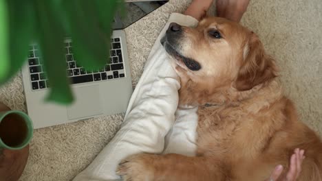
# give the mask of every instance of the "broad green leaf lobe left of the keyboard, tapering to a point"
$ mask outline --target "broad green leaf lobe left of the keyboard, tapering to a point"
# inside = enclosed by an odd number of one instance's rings
[[[23,66],[28,56],[28,46],[34,35],[34,7],[31,0],[8,0],[10,21],[10,69],[6,79]]]

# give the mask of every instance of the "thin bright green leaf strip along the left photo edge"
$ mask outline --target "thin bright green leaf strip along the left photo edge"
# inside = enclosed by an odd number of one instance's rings
[[[8,8],[5,0],[0,0],[0,82],[8,76],[10,67]]]

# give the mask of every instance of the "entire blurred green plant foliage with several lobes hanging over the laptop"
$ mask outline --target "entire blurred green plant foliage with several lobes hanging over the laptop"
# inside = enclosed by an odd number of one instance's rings
[[[0,84],[23,66],[30,43],[41,51],[50,82],[48,101],[71,104],[66,76],[65,37],[85,69],[107,63],[114,14],[120,0],[0,0]]]

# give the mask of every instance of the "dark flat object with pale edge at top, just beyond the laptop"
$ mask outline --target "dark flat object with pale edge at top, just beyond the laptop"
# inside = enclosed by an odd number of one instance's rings
[[[168,0],[169,1],[169,0]],[[125,3],[125,14],[116,12],[114,16],[114,29],[124,29],[136,21],[142,19],[150,12],[160,8],[168,1],[144,1],[144,0],[128,0]]]

